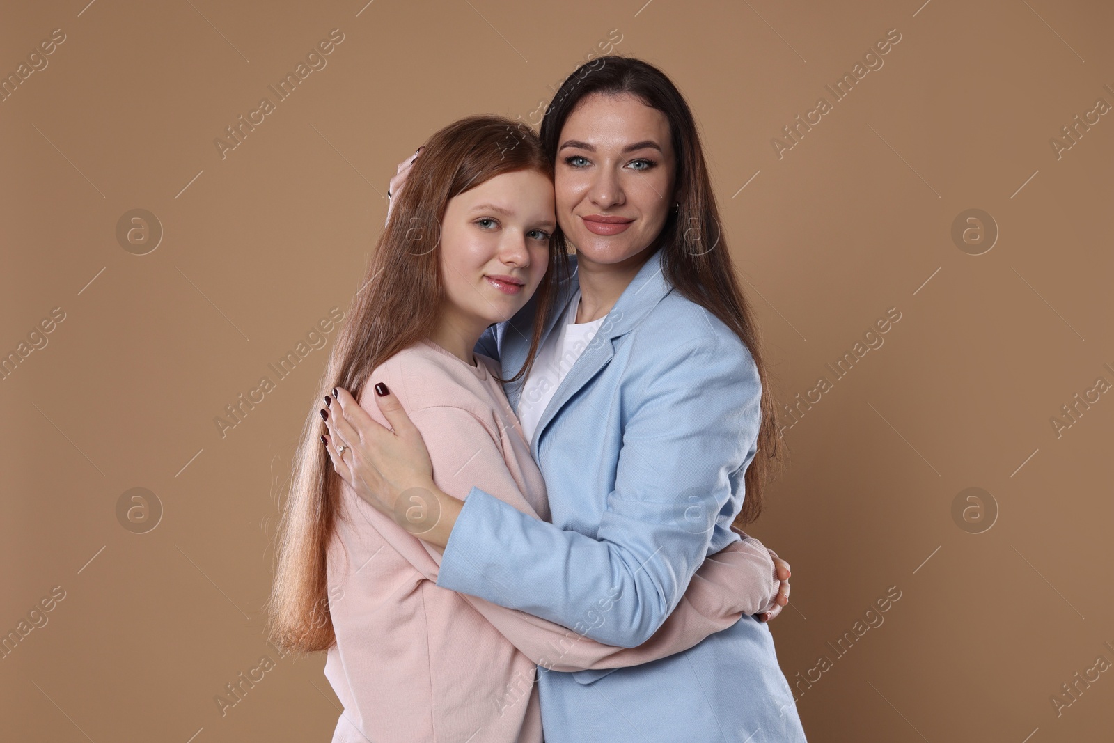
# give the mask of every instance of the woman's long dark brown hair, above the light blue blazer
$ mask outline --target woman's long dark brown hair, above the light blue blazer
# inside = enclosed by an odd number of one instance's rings
[[[719,317],[746,345],[762,382],[762,423],[758,450],[744,478],[743,508],[736,526],[754,521],[762,512],[763,486],[781,461],[784,442],[778,436],[778,413],[768,383],[769,372],[750,302],[740,290],[722,235],[720,209],[704,163],[696,121],[684,96],[659,69],[628,57],[599,57],[576,69],[561,85],[541,121],[541,144],[556,163],[560,134],[569,115],[592,94],[632,95],[665,115],[676,153],[676,193],[680,207],[671,214],[658,237],[664,252],[665,278],[688,300]],[[565,237],[557,247],[567,252]],[[762,456],[760,456],[762,454]]]

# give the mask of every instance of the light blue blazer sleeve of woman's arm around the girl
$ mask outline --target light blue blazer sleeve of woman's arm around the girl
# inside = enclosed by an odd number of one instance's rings
[[[762,385],[745,345],[704,334],[657,354],[631,389],[633,412],[596,537],[529,518],[473,487],[438,586],[606,645],[636,647],[662,627],[712,539],[712,528],[685,518],[687,509],[720,516],[742,507]]]

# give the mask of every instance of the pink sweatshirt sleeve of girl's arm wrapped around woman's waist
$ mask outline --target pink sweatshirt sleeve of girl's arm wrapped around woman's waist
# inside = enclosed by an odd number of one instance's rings
[[[478,480],[508,507],[528,518],[538,518],[511,477],[495,432],[476,413],[431,407],[416,410],[411,419],[429,449],[439,488],[466,499],[471,483]],[[441,558],[437,550],[393,524],[385,525],[382,532],[400,554],[410,556],[411,564],[424,578],[437,580],[437,563]],[[426,548],[426,554],[419,550],[414,555],[419,545]],[[758,539],[747,538],[704,560],[661,630],[637,648],[604,645],[524,612],[468,594],[461,597],[530,661],[550,671],[573,672],[638,665],[686,651],[709,635],[726,629],[744,614],[764,610],[776,593],[778,580],[769,551]]]

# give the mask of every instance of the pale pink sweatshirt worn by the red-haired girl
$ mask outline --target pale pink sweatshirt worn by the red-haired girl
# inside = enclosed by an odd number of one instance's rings
[[[360,404],[387,424],[371,392],[385,383],[421,431],[433,480],[463,499],[472,486],[548,519],[545,481],[500,383],[422,341],[380,365]],[[773,607],[778,579],[753,538],[706,558],[673,614],[635,648],[602,645],[560,625],[436,585],[441,555],[342,482],[328,554],[336,644],[325,676],[344,704],[333,743],[540,743],[537,665],[614,668],[693,647],[744,614]]]

